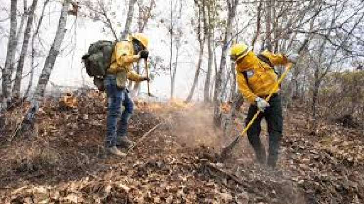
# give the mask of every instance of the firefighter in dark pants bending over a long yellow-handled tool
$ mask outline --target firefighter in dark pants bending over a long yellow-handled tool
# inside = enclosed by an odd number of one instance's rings
[[[269,95],[278,83],[278,75],[275,73],[273,66],[296,62],[298,54],[284,56],[266,50],[259,55],[255,55],[247,45],[239,43],[231,47],[230,58],[236,62],[236,77],[239,89],[251,103],[245,121],[246,125],[258,109],[261,111],[247,131],[249,142],[254,148],[258,162],[265,164],[267,160],[266,152],[259,138],[261,121],[265,118],[269,134],[267,163],[270,167],[275,167],[278,160],[279,141],[283,131],[279,89],[275,91],[269,101],[264,100],[264,98]]]

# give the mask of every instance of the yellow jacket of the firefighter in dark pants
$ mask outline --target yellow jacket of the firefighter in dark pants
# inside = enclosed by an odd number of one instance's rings
[[[262,54],[270,60],[273,65],[286,65],[288,59],[282,54],[273,54],[267,50]],[[274,86],[278,83],[278,76],[274,70],[265,62],[259,60],[257,56],[250,51],[242,60],[236,64],[236,81],[240,92],[252,103],[255,103],[256,97],[265,97],[269,95]],[[247,72],[248,81],[245,80],[242,71]],[[249,84],[249,85],[248,85]],[[275,90],[277,93],[279,89]]]

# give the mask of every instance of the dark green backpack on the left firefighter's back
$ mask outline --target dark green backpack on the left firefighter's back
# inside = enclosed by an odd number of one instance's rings
[[[93,77],[93,82],[100,91],[104,91],[103,80],[111,64],[111,57],[116,42],[99,40],[92,43],[88,52],[82,56],[87,75]]]

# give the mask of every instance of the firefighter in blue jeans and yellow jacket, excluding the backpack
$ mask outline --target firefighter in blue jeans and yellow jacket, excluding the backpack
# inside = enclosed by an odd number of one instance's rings
[[[132,145],[127,137],[128,121],[133,111],[133,102],[126,88],[127,80],[150,81],[132,71],[132,64],[147,59],[148,38],[141,33],[132,34],[115,45],[111,65],[104,79],[108,99],[107,134],[105,147],[113,155],[124,156],[117,147],[128,148]],[[121,112],[121,105],[124,111]],[[120,121],[118,118],[121,114]]]

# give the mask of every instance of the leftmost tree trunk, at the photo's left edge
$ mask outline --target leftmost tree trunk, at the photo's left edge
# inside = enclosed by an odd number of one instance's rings
[[[11,87],[11,71],[14,67],[14,55],[17,46],[16,32],[17,32],[17,5],[18,0],[11,0],[10,3],[10,31],[8,50],[5,60],[5,66],[2,71],[2,93],[3,93],[3,109],[7,107],[7,99],[10,94]]]

